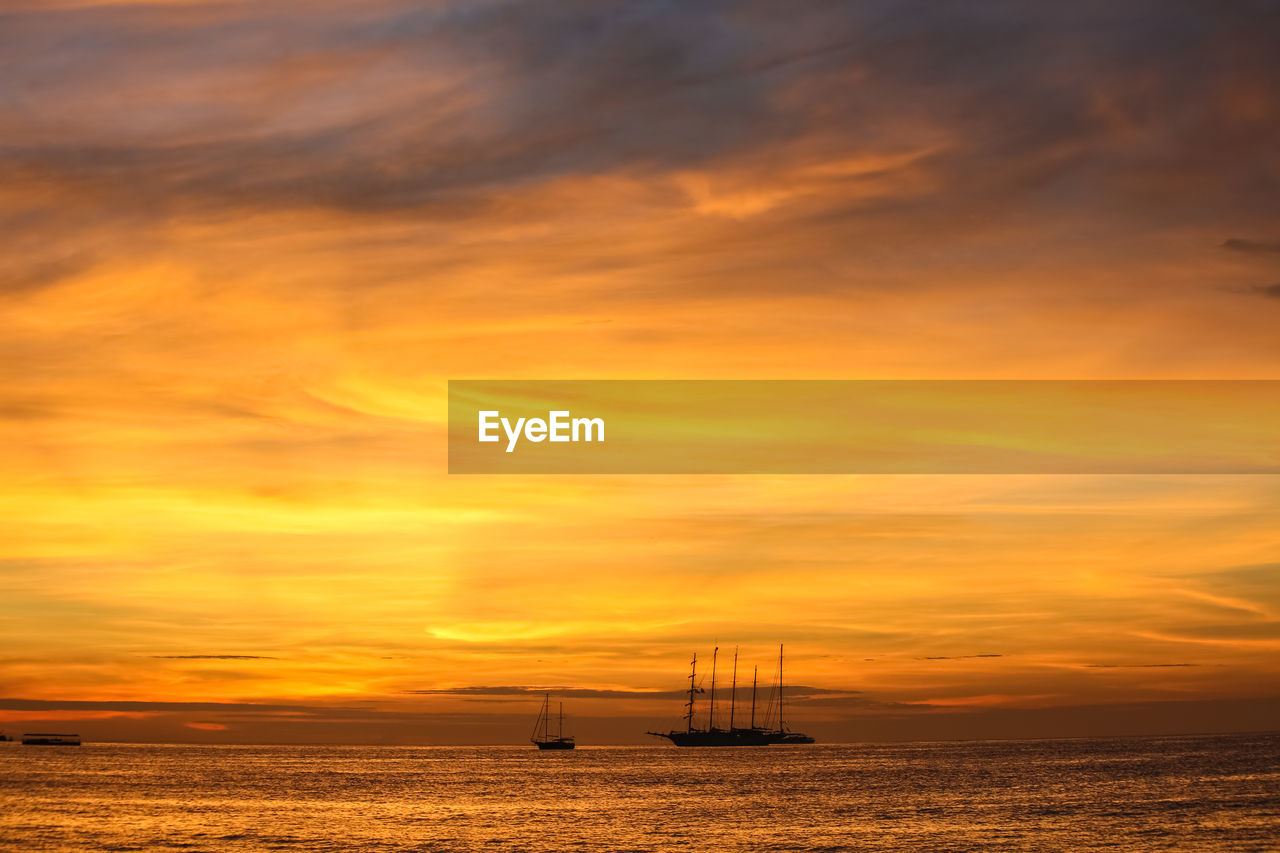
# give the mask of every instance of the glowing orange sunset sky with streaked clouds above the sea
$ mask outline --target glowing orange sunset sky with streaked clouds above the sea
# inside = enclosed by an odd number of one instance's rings
[[[0,1],[0,729],[643,743],[717,643],[828,742],[1274,727],[1274,475],[449,475],[445,387],[1280,379],[1277,36]]]

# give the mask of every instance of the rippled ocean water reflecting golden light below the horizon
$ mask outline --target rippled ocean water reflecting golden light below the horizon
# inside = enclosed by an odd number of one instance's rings
[[[1280,735],[0,748],[6,850],[1280,850]]]

